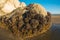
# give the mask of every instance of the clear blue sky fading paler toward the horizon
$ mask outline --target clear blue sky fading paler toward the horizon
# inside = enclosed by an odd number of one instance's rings
[[[60,0],[20,0],[20,2],[25,2],[27,5],[38,3],[52,14],[60,14]]]

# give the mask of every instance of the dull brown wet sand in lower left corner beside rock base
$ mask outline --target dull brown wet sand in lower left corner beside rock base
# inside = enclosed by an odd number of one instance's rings
[[[14,40],[10,31],[0,28],[0,40]]]

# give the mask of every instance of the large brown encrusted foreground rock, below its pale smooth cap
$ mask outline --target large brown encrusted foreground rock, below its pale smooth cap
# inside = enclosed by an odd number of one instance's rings
[[[38,6],[40,7],[40,5]],[[47,13],[46,15],[44,15],[45,12],[41,12],[40,14],[37,12],[41,11],[43,8],[40,9],[39,7],[37,7],[36,12],[36,8],[34,9],[30,7],[33,6],[29,5],[24,9],[18,8],[10,14],[1,16],[0,27],[10,30],[12,34],[16,36],[16,38],[19,38],[21,40],[43,34],[51,26],[51,14]]]

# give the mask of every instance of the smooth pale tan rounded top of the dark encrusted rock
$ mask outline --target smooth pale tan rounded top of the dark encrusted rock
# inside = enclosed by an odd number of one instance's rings
[[[47,11],[45,10],[45,8],[40,5],[40,4],[30,4],[28,6],[28,9],[31,11],[31,12],[35,12],[37,14],[40,14],[40,15],[43,15],[44,17],[47,15]]]

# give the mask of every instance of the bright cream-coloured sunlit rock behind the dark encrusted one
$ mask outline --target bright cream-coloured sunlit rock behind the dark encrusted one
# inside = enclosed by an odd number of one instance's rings
[[[18,7],[24,8],[26,4],[19,0],[0,0],[0,16],[6,15]]]

